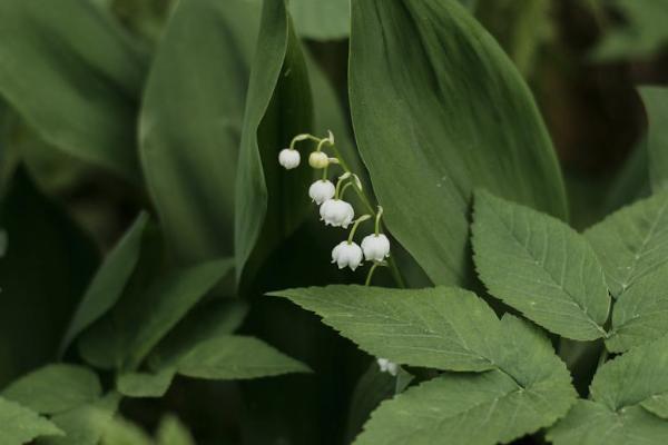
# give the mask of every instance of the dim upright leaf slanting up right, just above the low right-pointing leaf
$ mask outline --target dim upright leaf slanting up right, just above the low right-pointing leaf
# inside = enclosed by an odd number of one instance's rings
[[[145,290],[129,293],[81,338],[91,364],[134,370],[148,353],[225,275],[223,259],[158,276]]]

